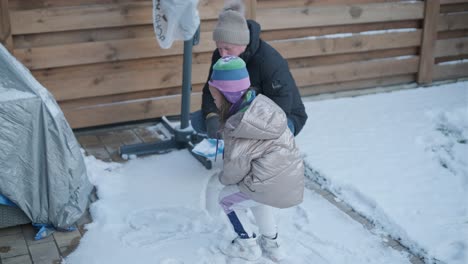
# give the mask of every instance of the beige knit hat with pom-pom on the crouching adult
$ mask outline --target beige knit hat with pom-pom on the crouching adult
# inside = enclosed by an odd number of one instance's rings
[[[214,41],[235,45],[249,44],[250,31],[242,10],[244,10],[242,1],[231,1],[224,7],[213,31]]]

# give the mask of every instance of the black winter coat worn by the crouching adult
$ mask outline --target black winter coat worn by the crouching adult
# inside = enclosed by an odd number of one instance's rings
[[[257,22],[247,20],[247,24],[250,30],[250,43],[240,57],[247,64],[251,86],[283,109],[288,119],[293,121],[295,135],[297,135],[307,120],[307,114],[296,82],[289,71],[288,62],[278,51],[260,39],[260,25]],[[221,55],[218,50],[215,50],[211,59],[208,80],[213,65],[219,58],[221,58]],[[217,111],[207,81],[203,87],[203,116],[206,117],[209,113],[216,113]]]

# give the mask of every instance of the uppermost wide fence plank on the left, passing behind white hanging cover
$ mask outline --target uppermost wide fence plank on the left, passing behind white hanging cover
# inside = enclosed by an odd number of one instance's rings
[[[201,19],[216,19],[221,8],[220,1],[200,1]],[[151,1],[12,10],[11,14],[15,35],[152,23]]]

